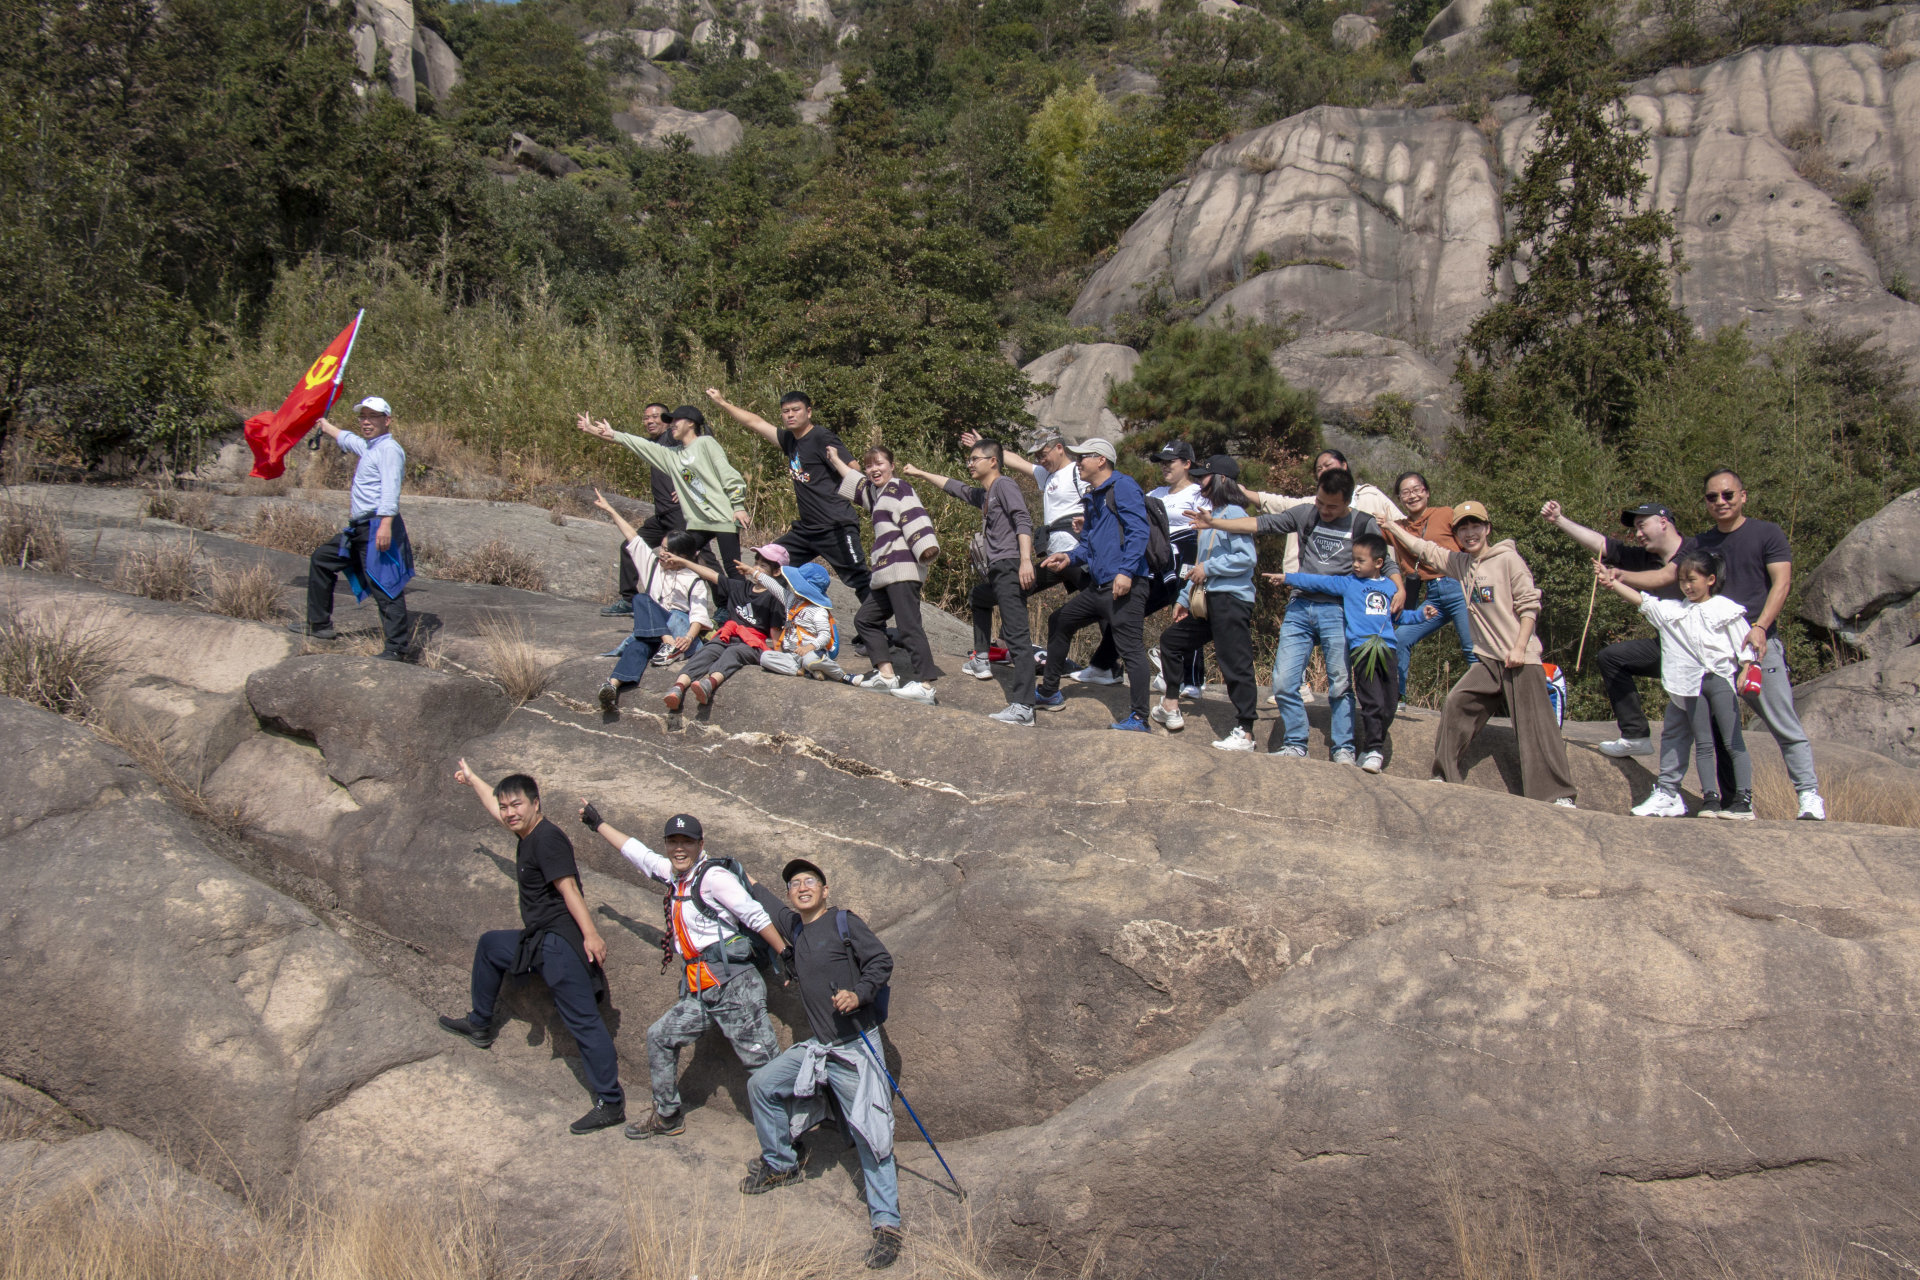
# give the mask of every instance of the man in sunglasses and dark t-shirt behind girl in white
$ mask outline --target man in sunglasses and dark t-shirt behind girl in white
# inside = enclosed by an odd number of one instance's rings
[[[1753,628],[1747,645],[1761,654],[1761,691],[1745,695],[1747,706],[1780,743],[1788,777],[1799,793],[1803,821],[1826,821],[1826,800],[1820,798],[1820,777],[1812,768],[1812,745],[1793,710],[1793,679],[1788,674],[1786,647],[1776,633],[1780,610],[1788,606],[1793,589],[1793,551],[1788,535],[1770,520],[1749,520],[1747,486],[1724,466],[1707,472],[1707,514],[1713,528],[1699,535],[1699,549],[1724,562],[1720,595],[1747,608]],[[1732,762],[1720,752],[1720,794],[1734,794]]]

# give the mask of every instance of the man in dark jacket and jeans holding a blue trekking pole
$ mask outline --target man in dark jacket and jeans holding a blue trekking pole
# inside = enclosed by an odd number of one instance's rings
[[[874,1244],[870,1268],[891,1267],[900,1255],[900,1186],[893,1163],[893,1098],[879,1052],[879,1019],[885,1015],[893,956],[852,912],[828,906],[828,873],[804,858],[781,869],[787,900],[766,885],[753,885],[781,936],[791,938],[789,971],[801,984],[810,1040],[799,1040],[747,1080],[753,1128],[760,1138],[755,1161],[739,1190],[760,1196],[801,1180],[793,1138],[826,1111],[818,1082],[824,1079],[847,1117],[847,1136],[860,1155],[868,1224]],[[864,1034],[862,1034],[864,1032]]]

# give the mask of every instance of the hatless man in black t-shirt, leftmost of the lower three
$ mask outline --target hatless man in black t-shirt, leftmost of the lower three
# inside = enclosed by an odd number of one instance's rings
[[[620,1090],[620,1059],[599,1013],[599,998],[607,994],[607,977],[601,973],[607,942],[580,896],[574,842],[540,816],[540,783],[526,773],[511,773],[488,787],[461,760],[453,781],[472,787],[486,812],[520,839],[513,875],[520,885],[522,927],[480,935],[474,944],[472,1009],[467,1017],[442,1017],[440,1025],[480,1048],[492,1046],[501,983],[509,973],[538,969],[553,992],[561,1021],[580,1046],[580,1061],[595,1096],[593,1109],[572,1123],[572,1132],[589,1134],[622,1125],[626,1094]]]

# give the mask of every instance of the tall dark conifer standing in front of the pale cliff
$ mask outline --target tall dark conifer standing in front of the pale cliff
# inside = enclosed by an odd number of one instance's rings
[[[1509,273],[1513,290],[1475,320],[1455,372],[1475,461],[1524,447],[1555,413],[1617,441],[1692,340],[1672,215],[1644,200],[1647,140],[1626,129],[1603,10],[1544,0],[1517,52],[1542,115],[1488,263],[1488,292]]]

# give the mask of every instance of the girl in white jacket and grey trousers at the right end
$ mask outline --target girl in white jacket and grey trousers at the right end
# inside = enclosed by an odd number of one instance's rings
[[[1661,725],[1661,777],[1653,794],[1634,806],[1638,818],[1686,818],[1680,781],[1688,745],[1699,768],[1701,818],[1753,818],[1753,760],[1740,731],[1740,668],[1753,660],[1745,606],[1720,595],[1720,557],[1690,549],[1674,560],[1678,601],[1661,601],[1620,581],[1620,572],[1594,562],[1594,574],[1630,604],[1638,604],[1661,633],[1661,685],[1667,722]],[[1715,787],[1715,735],[1734,756],[1734,794],[1726,808]]]

